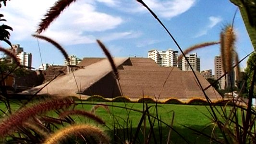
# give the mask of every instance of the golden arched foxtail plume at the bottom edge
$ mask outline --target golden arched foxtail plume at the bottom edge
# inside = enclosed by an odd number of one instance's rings
[[[44,144],[60,144],[71,135],[81,136],[86,140],[92,140],[95,144],[109,144],[110,142],[110,138],[98,127],[80,124],[65,127],[53,133],[45,140]]]

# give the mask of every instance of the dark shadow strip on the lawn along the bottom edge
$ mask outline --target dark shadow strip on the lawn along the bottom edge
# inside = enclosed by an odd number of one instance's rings
[[[143,126],[142,126],[143,127]],[[197,131],[201,131],[205,134],[211,135],[212,133],[212,127],[205,127],[202,126],[188,126],[189,128],[195,129]],[[171,131],[170,135],[170,141],[168,144],[216,144],[214,142],[210,142],[211,140],[203,135],[196,134],[195,131],[190,130],[189,128],[185,128],[183,126],[174,126],[173,129],[179,132],[185,140],[178,135],[176,132]],[[111,137],[111,143],[112,144],[132,144],[134,133],[136,132],[136,128],[128,128],[128,129],[115,129],[115,131],[107,131]],[[154,127],[154,135],[149,134],[150,128],[146,127],[146,129],[142,128],[139,132],[139,135],[137,136],[137,139],[135,141],[135,144],[145,144],[145,138],[148,143],[146,144],[167,144],[168,142],[168,135],[170,132],[169,127],[161,126],[160,130],[158,129],[158,126]],[[146,132],[144,135],[143,132]],[[115,135],[114,135],[115,132]],[[161,134],[160,134],[161,133]],[[218,134],[218,133],[217,133]],[[219,133],[220,134],[220,133]],[[219,135],[218,134],[218,135]],[[216,135],[216,132],[215,132]]]

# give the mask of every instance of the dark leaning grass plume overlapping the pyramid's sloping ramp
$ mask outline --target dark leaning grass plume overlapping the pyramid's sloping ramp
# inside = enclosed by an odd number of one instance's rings
[[[115,62],[114,62],[109,50],[104,46],[104,44],[100,40],[97,39],[97,42],[98,42],[99,47],[103,50],[103,52],[107,56],[108,60],[110,61],[110,65],[111,65],[112,70],[116,76],[116,79],[119,79],[119,74],[118,74]]]

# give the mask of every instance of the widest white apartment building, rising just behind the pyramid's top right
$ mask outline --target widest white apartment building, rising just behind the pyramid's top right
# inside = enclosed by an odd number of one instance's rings
[[[153,49],[148,51],[147,57],[154,60],[160,66],[174,67],[177,66],[178,51],[172,49],[158,51],[157,49]]]

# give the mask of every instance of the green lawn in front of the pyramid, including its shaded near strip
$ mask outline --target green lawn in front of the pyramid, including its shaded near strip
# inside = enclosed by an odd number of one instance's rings
[[[80,102],[78,102],[80,103]],[[75,108],[77,109],[85,109],[85,110],[91,110],[91,108],[95,105],[90,102],[83,102],[84,104],[77,105]],[[125,109],[125,108],[116,108],[114,106],[120,106],[125,107],[124,103],[111,103],[111,102],[98,102],[101,104],[107,104],[110,105],[108,108],[110,109],[110,112],[107,112],[105,108],[98,108],[96,109],[96,115],[98,115],[100,118],[106,121],[107,126],[104,128],[107,132],[109,132],[110,137],[113,139],[113,127],[115,127],[115,131],[118,132],[118,135],[120,137],[127,137],[127,135],[133,135],[138,127],[139,121],[142,117],[142,113]],[[155,106],[155,104],[148,104],[148,106]],[[11,104],[12,109],[18,109],[20,106],[18,104],[12,103]],[[113,107],[112,107],[113,106]],[[127,108],[132,108],[136,110],[143,110],[143,104],[141,103],[126,103]],[[5,105],[3,103],[0,104],[1,110],[6,110]],[[156,109],[155,107],[152,107],[149,109],[150,114],[156,116]],[[195,105],[171,105],[171,104],[158,104],[158,118],[162,121],[171,124],[172,115],[174,114],[174,121],[173,121],[173,129],[177,132],[179,132],[189,143],[193,144],[202,144],[202,143],[209,143],[207,139],[205,139],[203,136],[198,137],[198,135],[195,134],[195,132],[189,130],[188,128],[183,127],[183,125],[196,129],[198,131],[203,130],[208,124],[210,124],[210,120],[207,118],[207,116],[210,117],[209,112],[207,111],[206,106],[195,106]],[[205,116],[206,114],[207,116]],[[51,112],[49,115],[56,116],[56,113]],[[2,116],[2,114],[1,114]],[[128,119],[129,116],[129,119]],[[76,122],[88,122],[88,119],[81,118],[81,117],[73,117]],[[115,126],[113,125],[115,120]],[[151,121],[154,119],[151,118]],[[128,124],[127,124],[128,122]],[[127,126],[128,125],[128,126]],[[163,140],[163,143],[166,144],[166,140],[168,137],[168,133],[170,128],[168,128],[165,124],[159,123],[162,132],[161,136],[159,134],[158,129],[158,121],[155,121],[154,124],[154,132],[156,135],[156,139],[158,142],[160,139]],[[146,119],[146,131],[149,131],[149,123],[148,119]],[[139,132],[140,141],[143,142],[143,127],[144,123],[142,124],[142,129]],[[128,128],[128,129],[127,129]],[[210,133],[212,128],[204,130],[206,133]],[[128,132],[128,133],[127,133]],[[131,133],[132,132],[132,133]],[[179,136],[176,132],[171,132],[171,141],[174,144],[183,144],[185,141]],[[152,144],[154,144],[153,136],[150,141]]]

